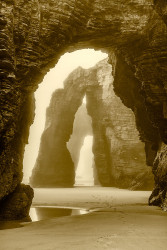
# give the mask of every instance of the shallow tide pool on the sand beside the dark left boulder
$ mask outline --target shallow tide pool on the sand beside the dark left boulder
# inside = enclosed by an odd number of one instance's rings
[[[83,209],[70,209],[70,208],[55,208],[55,207],[36,207],[30,209],[30,217],[32,221],[45,220],[55,217],[80,215],[88,213]]]

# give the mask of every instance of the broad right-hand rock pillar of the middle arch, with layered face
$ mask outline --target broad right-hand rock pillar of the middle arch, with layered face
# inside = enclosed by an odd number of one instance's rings
[[[103,186],[151,189],[153,176],[146,166],[134,114],[114,93],[111,65],[102,61],[95,69],[96,73],[90,71],[86,91],[99,180]]]

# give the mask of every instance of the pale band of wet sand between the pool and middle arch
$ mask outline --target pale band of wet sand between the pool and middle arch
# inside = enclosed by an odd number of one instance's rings
[[[115,205],[147,204],[151,191],[111,187],[35,188],[33,206],[109,208]]]

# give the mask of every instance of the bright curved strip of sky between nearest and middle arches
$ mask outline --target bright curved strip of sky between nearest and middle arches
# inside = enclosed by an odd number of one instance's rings
[[[51,69],[44,77],[43,82],[35,92],[36,115],[30,129],[29,144],[25,148],[23,161],[24,183],[28,182],[38,155],[40,137],[45,125],[45,112],[49,106],[52,93],[58,88],[63,88],[63,81],[75,68],[79,66],[85,69],[93,67],[107,56],[107,54],[93,49],[66,53],[60,58],[55,68]]]

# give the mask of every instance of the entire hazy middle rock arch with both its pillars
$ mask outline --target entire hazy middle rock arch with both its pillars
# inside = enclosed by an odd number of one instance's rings
[[[151,168],[146,166],[144,143],[139,140],[134,114],[114,93],[112,67],[107,59],[88,70],[78,68],[66,79],[64,90],[57,90],[53,94],[31,184],[34,187],[44,187],[45,183],[47,187],[69,185],[70,174],[64,176],[64,173],[72,171],[72,162],[65,157],[64,151],[60,152],[62,145],[66,147],[74,123],[68,149],[76,167],[83,140],[86,135],[92,134],[91,118],[86,120],[84,106],[76,112],[83,98],[83,90],[88,114],[92,118],[93,153],[100,183],[131,189],[153,188],[153,175]],[[65,94],[61,95],[61,92]],[[76,98],[80,98],[80,102]],[[61,133],[59,128],[62,128]]]

